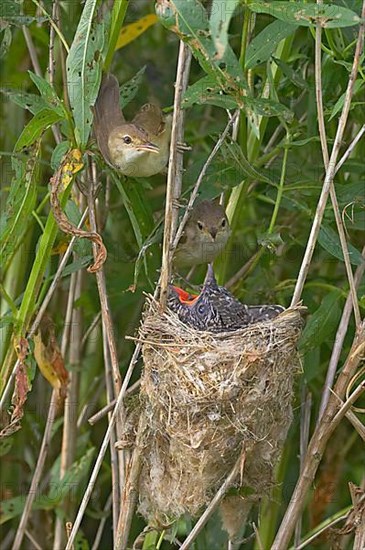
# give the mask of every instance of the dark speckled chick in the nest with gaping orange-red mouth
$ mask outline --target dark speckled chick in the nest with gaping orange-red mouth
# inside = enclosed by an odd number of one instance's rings
[[[284,311],[278,305],[242,304],[226,288],[217,284],[211,264],[208,265],[204,285],[198,296],[171,286],[167,305],[185,325],[208,332],[237,330],[273,319]]]

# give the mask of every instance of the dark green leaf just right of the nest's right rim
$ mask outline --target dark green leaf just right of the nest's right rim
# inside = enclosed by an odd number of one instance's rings
[[[340,291],[330,292],[313,313],[299,340],[299,349],[302,353],[320,346],[328,341],[329,337],[334,338],[341,317],[340,296]]]

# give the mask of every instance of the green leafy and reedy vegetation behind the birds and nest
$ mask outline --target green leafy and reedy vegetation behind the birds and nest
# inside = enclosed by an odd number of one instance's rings
[[[295,420],[277,468],[274,499],[255,511],[252,520],[258,535],[242,545],[272,547],[305,462],[308,439],[316,436],[319,413],[329,397],[324,388],[332,385],[336,371],[346,369],[356,321],[359,332],[365,307],[365,144],[358,139],[364,132],[365,75],[361,46],[356,50],[364,8],[360,0],[317,4],[324,10],[320,14],[313,11],[314,2],[270,2],[268,7],[249,0],[213,1],[209,23],[206,8],[195,0],[160,0],[157,18],[153,3],[144,0],[2,2],[4,549],[12,546],[20,518],[13,548],[64,547],[64,523],[75,517],[108,423],[108,416],[93,425],[87,419],[112,401],[120,387],[113,366],[119,365],[123,379],[134,349],[125,336],[135,334],[143,293],[154,290],[161,265],[166,176],[118,178],[103,162],[91,134],[90,111],[102,70],[111,69],[122,85],[128,82],[122,88],[127,118],[148,100],[171,110],[180,37],[193,53],[183,101],[185,141],[192,150],[184,155],[182,206],[226,127],[227,109],[232,114],[240,109],[233,140],[223,143],[199,193],[201,198],[224,193],[232,236],[216,272],[220,283],[229,284],[240,300],[290,305],[313,220],[321,221],[315,216],[328,156],[341,120],[346,122],[335,159],[337,164],[346,157],[335,176],[337,202],[332,193],[303,292],[297,286],[297,298],[309,314],[300,342],[303,374],[296,388]],[[346,96],[354,59],[359,70]],[[345,110],[349,107],[347,121],[344,105]],[[71,150],[79,153],[69,153],[62,161]],[[71,240],[55,222],[50,208],[50,180],[55,174],[67,217],[77,225],[88,205],[83,227],[97,227],[102,235],[108,256],[96,276],[86,271],[92,263],[91,243]],[[338,234],[341,221],[349,250],[347,270],[344,241],[341,244]],[[349,267],[357,272],[356,317],[351,300],[346,301]],[[197,270],[194,282],[200,283],[203,276],[204,269]],[[363,346],[363,333],[359,338]],[[63,363],[70,380],[66,405]],[[355,364],[350,378],[356,369],[363,373]],[[131,384],[140,372],[138,362]],[[329,427],[333,418],[334,414]],[[343,527],[354,503],[349,482],[364,488],[362,420],[363,411],[353,410],[350,421],[343,419],[325,444],[315,482],[301,495],[296,541],[337,517],[343,517],[338,525]],[[112,434],[112,443],[115,437]],[[49,444],[42,447],[42,440]],[[117,475],[111,465],[113,445],[111,449],[102,461],[76,548],[112,548],[119,504],[112,483]],[[131,544],[143,528],[136,515]],[[191,521],[184,519],[175,534],[183,540],[190,529]],[[252,532],[250,525],[246,536]],[[327,530],[307,547],[328,548],[330,536]],[[341,548],[352,547],[353,535],[335,536],[341,536]],[[194,544],[197,549],[226,547],[227,536],[216,516]],[[172,545],[171,533],[161,537],[153,532],[144,542],[144,548]]]

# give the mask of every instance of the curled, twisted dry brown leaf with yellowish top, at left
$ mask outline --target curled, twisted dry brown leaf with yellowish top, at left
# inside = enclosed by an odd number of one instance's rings
[[[69,235],[89,239],[97,246],[97,253],[93,265],[88,268],[90,273],[99,271],[106,260],[107,252],[99,233],[84,231],[73,225],[62,210],[59,195],[71,183],[74,175],[83,167],[81,152],[78,149],[69,151],[55,175],[51,178],[51,206],[58,227]]]

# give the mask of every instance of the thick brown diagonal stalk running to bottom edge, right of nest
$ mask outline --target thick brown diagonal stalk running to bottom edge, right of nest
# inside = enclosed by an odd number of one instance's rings
[[[305,495],[314,480],[327,442],[346,413],[346,409],[342,408],[341,414],[338,414],[337,397],[342,399],[345,395],[349,380],[351,380],[353,374],[356,372],[359,362],[361,361],[364,344],[365,322],[357,330],[346,363],[338,377],[334,388],[334,393],[336,396],[332,395],[330,397],[321,421],[316,427],[310,440],[304,461],[303,471],[298,478],[297,485],[294,489],[271,550],[282,550],[282,548],[288,547],[295,524],[305,504]],[[351,397],[353,397],[353,395]]]

